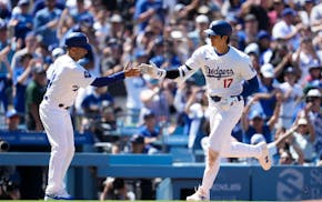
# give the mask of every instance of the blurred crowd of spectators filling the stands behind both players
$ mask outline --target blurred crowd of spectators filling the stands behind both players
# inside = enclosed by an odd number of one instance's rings
[[[38,108],[67,33],[88,36],[91,51],[78,62],[99,77],[128,62],[178,68],[209,42],[203,30],[215,19],[232,24],[230,43],[260,81],[232,138],[266,141],[274,164],[321,165],[321,0],[0,0],[1,129],[43,131]],[[142,75],[80,90],[70,112],[77,131],[112,143],[108,152],[135,143],[137,153],[167,152],[158,143],[165,133],[187,137],[194,152],[207,147],[207,93],[201,72],[181,83]],[[139,130],[124,144],[110,134],[125,125]]]

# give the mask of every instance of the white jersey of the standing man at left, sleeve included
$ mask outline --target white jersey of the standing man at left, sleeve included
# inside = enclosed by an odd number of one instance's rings
[[[70,107],[76,100],[79,88],[88,87],[94,79],[83,67],[64,54],[52,64],[44,97],[50,103]]]

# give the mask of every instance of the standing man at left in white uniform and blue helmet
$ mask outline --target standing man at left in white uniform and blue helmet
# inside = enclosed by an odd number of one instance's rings
[[[51,144],[48,185],[44,200],[71,200],[63,178],[74,153],[73,127],[68,109],[73,104],[80,88],[103,87],[125,77],[138,77],[139,69],[127,65],[124,71],[102,78],[92,77],[77,61],[83,58],[90,44],[81,32],[66,39],[67,53],[59,57],[52,69],[47,92],[40,104],[40,118]]]

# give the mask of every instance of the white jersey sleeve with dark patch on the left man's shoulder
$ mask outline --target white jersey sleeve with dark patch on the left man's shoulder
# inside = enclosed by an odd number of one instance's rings
[[[92,77],[90,72],[81,65],[77,65],[72,71],[72,79],[80,88],[87,88],[95,80],[95,77]]]

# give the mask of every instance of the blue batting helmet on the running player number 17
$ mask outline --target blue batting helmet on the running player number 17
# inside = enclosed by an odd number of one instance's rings
[[[224,20],[212,21],[209,29],[204,30],[208,36],[228,36],[232,33],[232,27]]]

